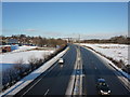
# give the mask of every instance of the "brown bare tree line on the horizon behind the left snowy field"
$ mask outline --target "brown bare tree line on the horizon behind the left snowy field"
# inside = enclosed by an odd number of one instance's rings
[[[50,46],[55,47],[56,45],[66,44],[67,42],[62,39],[54,39],[54,38],[43,38],[39,37],[30,37],[26,34],[12,34],[11,37],[1,36],[2,44],[6,44],[6,40],[15,39],[20,44],[31,44],[37,46]]]

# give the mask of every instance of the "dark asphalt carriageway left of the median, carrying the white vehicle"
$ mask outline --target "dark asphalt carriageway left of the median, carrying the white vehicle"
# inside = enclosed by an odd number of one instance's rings
[[[63,56],[65,64],[61,67],[57,63],[47,70],[37,80],[22,89],[18,95],[65,95],[69,78],[76,61],[76,47],[69,46],[69,51]]]

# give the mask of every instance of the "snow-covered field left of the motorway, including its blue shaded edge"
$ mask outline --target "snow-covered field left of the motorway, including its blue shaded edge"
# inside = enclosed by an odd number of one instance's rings
[[[43,58],[47,55],[50,55],[54,52],[54,50],[51,51],[27,51],[36,48],[36,46],[20,46],[18,50],[15,50],[13,52],[0,54],[0,67],[2,66],[2,70],[6,70],[8,68],[11,68],[13,65],[15,65],[18,60],[23,59],[24,64],[28,64],[28,59],[31,57],[35,58]],[[23,52],[24,51],[24,52]]]

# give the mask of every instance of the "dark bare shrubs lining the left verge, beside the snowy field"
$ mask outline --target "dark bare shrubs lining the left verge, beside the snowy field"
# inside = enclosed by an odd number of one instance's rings
[[[41,58],[37,58],[35,56],[30,56],[28,58],[29,64],[25,64],[23,58],[15,61],[12,68],[8,68],[6,70],[2,71],[2,86],[1,89],[5,91],[6,88],[14,85],[17,81],[23,79],[24,77],[28,75],[34,70],[38,69],[44,63],[56,56],[58,53],[64,51],[67,45],[62,45],[57,48],[54,53],[49,55],[42,55]]]

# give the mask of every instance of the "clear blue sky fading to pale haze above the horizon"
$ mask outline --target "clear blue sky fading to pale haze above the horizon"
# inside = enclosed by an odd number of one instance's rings
[[[127,33],[127,2],[2,3],[3,36],[105,39]]]

